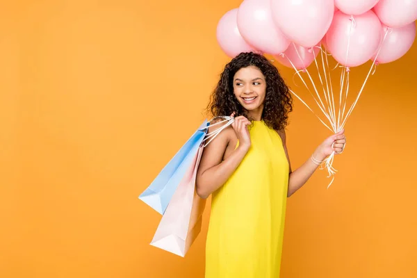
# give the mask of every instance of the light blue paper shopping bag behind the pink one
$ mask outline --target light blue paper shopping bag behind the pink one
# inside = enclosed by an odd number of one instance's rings
[[[227,124],[224,124],[220,129],[211,133],[207,133],[210,122],[205,120],[193,136],[187,140],[186,144],[171,158],[170,162],[163,167],[163,170],[152,181],[151,185],[140,194],[139,199],[154,208],[158,213],[163,214],[172,199],[172,195],[177,190],[181,179],[186,174],[186,170],[193,162],[195,154],[197,154],[199,147],[203,144],[203,141],[208,138],[213,140],[220,131],[234,122],[234,119],[231,117],[222,118],[226,119],[222,122],[227,121]],[[217,124],[222,122],[218,122]]]

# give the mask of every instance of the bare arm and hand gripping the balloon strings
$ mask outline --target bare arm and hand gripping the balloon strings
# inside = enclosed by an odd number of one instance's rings
[[[285,132],[279,132],[279,135],[282,138],[284,150],[289,161],[288,157],[288,150],[286,147],[286,134]],[[342,152],[343,145],[345,144],[345,136],[343,135],[343,131],[330,136],[327,138],[317,149],[313,152],[313,157],[316,158],[318,161],[324,161],[327,156],[332,154],[333,151],[338,153]],[[334,146],[332,147],[332,145]],[[290,172],[289,172],[289,180],[288,180],[288,193],[287,197],[293,195],[297,190],[299,190],[304,184],[310,179],[314,172],[316,172],[319,165],[313,163],[311,157],[308,161],[306,161],[303,165],[301,165],[297,170],[294,172],[291,171],[290,165]]]

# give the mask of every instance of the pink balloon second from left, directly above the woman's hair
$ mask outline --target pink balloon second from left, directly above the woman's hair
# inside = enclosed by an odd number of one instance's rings
[[[290,41],[272,19],[270,0],[245,0],[238,11],[238,28],[251,45],[268,54],[284,52]]]

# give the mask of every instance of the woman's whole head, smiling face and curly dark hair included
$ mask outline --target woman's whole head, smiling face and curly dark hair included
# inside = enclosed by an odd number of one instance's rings
[[[293,111],[293,98],[268,58],[243,52],[224,66],[207,108],[208,117],[234,114],[281,131]]]

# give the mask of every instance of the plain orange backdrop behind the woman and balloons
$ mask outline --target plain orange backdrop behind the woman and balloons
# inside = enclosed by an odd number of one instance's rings
[[[0,277],[203,277],[209,206],[183,259],[137,197],[204,119],[239,4],[3,1]],[[318,171],[288,199],[281,277],[417,277],[416,59],[371,76],[332,187]],[[287,133],[293,168],[330,135],[300,101]]]

